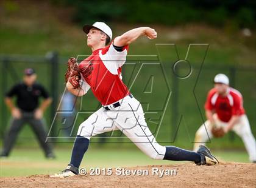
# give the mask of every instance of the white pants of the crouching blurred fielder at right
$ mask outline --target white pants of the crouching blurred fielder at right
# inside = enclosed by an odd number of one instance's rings
[[[213,115],[213,119],[215,120],[216,127],[225,127],[227,123],[222,122],[219,120],[216,113]],[[213,125],[210,121],[205,121],[204,124],[197,130],[195,144],[194,144],[194,151],[196,151],[199,145],[204,144],[208,141],[208,139],[213,138],[212,135],[212,127]],[[207,129],[207,132],[205,130]],[[252,135],[251,127],[246,115],[241,115],[240,120],[232,129],[244,142],[244,146],[246,147],[247,153],[249,154],[250,161],[256,161],[256,144],[254,135]],[[208,133],[208,135],[207,135]]]

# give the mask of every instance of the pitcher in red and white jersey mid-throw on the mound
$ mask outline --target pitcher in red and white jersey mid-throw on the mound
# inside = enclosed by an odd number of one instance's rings
[[[87,45],[93,53],[79,64],[81,74],[77,78],[82,78],[80,87],[76,88],[76,79],[69,79],[66,87],[77,96],[85,95],[91,89],[102,107],[80,124],[70,163],[65,170],[51,177],[65,178],[79,174],[79,166],[91,137],[118,129],[153,159],[194,161],[197,165],[218,164],[218,160],[205,146],[199,147],[197,152],[191,152],[158,144],[147,126],[140,102],[122,81],[121,67],[126,61],[129,44],[140,36],[157,38],[154,29],[138,27],[116,37],[112,42],[112,30],[104,22],[85,25],[84,32],[87,33]],[[110,45],[107,45],[108,42]]]

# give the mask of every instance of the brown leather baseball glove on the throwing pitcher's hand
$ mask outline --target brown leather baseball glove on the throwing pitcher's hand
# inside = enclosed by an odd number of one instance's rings
[[[74,89],[80,87],[80,69],[79,65],[76,62],[75,58],[68,59],[68,69],[66,69],[65,73],[65,81],[70,82]]]

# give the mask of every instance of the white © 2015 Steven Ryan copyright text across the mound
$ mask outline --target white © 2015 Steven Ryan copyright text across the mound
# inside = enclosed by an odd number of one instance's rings
[[[117,167],[115,169],[110,168],[90,168],[87,171],[85,168],[79,169],[80,175],[118,175],[118,176],[148,176],[148,175],[157,175],[160,178],[163,176],[172,176],[177,175],[176,169],[159,169],[158,167],[152,167],[151,169],[126,169]]]

